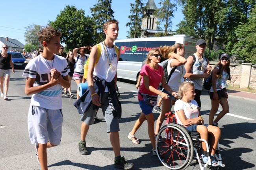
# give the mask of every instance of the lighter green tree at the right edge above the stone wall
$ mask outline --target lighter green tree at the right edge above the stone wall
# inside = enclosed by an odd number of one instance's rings
[[[248,22],[238,26],[235,33],[239,40],[234,44],[232,52],[245,62],[256,64],[256,5],[250,11]]]

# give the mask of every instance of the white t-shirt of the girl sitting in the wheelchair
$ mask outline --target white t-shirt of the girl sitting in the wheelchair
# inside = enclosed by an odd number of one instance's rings
[[[182,122],[180,121],[177,111],[184,110],[186,119],[193,119],[198,117],[199,111],[198,111],[198,105],[195,100],[191,100],[189,103],[184,102],[182,100],[177,100],[174,104],[174,111],[175,111],[175,117],[177,119],[177,123],[182,125]]]

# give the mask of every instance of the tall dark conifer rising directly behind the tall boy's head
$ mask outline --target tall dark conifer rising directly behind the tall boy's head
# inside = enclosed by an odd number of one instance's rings
[[[114,11],[111,9],[112,0],[98,0],[98,3],[93,5],[91,14],[95,25],[93,26],[96,42],[101,42],[105,39],[103,25],[106,21],[114,18]]]

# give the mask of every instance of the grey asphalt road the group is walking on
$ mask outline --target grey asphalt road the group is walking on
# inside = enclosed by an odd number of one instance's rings
[[[23,70],[11,74],[8,101],[0,98],[0,170],[37,170],[40,169],[35,156],[35,147],[28,137],[27,114],[30,96],[24,93],[25,78]],[[135,164],[134,170],[167,170],[158,157],[152,155],[152,146],[147,133],[147,122],[135,134],[141,144],[133,144],[127,138],[141,109],[137,101],[134,82],[119,80],[122,119],[120,120],[121,154]],[[76,83],[72,81],[72,91],[76,93]],[[208,122],[211,109],[210,97],[202,93],[202,116]],[[106,133],[101,110],[98,112],[103,122],[93,124],[86,138],[89,155],[80,155],[80,115],[73,103],[76,99],[62,97],[63,136],[59,146],[49,148],[49,170],[115,170],[114,155]],[[220,140],[221,156],[226,164],[225,170],[254,170],[256,155],[256,115],[255,101],[230,96],[230,113],[219,122],[222,131]],[[219,108],[221,110],[221,107]],[[155,120],[159,113],[154,113]],[[200,169],[198,164],[187,170]],[[206,168],[208,169],[208,168]]]

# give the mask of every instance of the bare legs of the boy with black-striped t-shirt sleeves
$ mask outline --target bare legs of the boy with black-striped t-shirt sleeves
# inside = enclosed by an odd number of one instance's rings
[[[46,144],[38,143],[38,158],[41,165],[42,170],[48,170],[47,167],[47,148],[51,148],[57,145],[53,145],[50,142]]]

